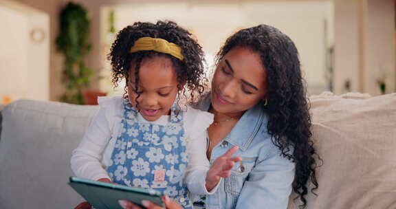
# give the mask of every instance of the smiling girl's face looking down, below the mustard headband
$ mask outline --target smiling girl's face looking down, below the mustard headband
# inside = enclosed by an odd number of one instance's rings
[[[139,87],[135,94],[135,63],[129,70],[128,96],[144,119],[155,121],[162,115],[169,115],[170,107],[177,96],[177,75],[169,58],[155,56],[140,63]]]

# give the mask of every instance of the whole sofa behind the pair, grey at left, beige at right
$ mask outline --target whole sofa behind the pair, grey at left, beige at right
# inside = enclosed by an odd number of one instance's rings
[[[396,94],[311,96],[318,168],[313,208],[396,208]],[[18,100],[1,111],[0,208],[73,208],[72,150],[97,106]],[[289,201],[289,209],[298,201]],[[263,203],[263,207],[265,203]]]

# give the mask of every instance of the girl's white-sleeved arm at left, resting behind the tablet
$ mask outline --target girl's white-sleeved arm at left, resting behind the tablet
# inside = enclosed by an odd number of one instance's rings
[[[100,108],[89,125],[80,145],[72,153],[72,170],[77,177],[94,181],[110,181],[102,166],[102,153],[111,138],[111,129],[106,111]]]

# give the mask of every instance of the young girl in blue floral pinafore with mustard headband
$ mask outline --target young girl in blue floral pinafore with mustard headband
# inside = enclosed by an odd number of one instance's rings
[[[237,147],[210,168],[206,128],[213,116],[178,104],[203,93],[203,52],[173,22],[135,23],[120,31],[109,54],[113,84],[124,98],[99,98],[100,111],[72,155],[78,177],[153,188],[191,208],[188,190],[209,195],[240,157]],[[177,99],[176,99],[177,98]],[[210,168],[210,169],[209,169]]]

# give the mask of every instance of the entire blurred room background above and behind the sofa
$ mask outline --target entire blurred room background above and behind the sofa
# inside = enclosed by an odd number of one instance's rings
[[[0,0],[0,104],[21,98],[94,104],[96,96],[122,94],[123,84],[112,87],[106,60],[115,34],[135,21],[164,19],[194,34],[208,73],[226,37],[263,23],[296,43],[309,95],[388,94],[396,91],[395,2]],[[65,15],[74,9],[83,13]],[[65,18],[83,24],[84,45],[57,41],[67,34]],[[82,47],[77,64],[65,47]]]

